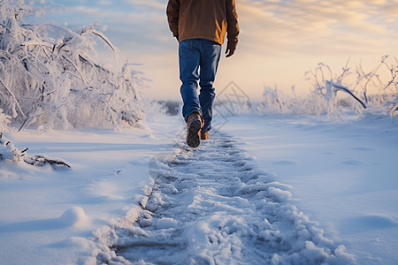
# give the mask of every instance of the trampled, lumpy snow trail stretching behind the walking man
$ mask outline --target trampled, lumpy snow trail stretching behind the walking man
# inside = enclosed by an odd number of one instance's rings
[[[295,208],[287,186],[251,166],[229,137],[214,137],[157,155],[141,205],[96,231],[97,263],[355,262]]]

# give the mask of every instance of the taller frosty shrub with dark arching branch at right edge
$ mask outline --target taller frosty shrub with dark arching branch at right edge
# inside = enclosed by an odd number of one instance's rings
[[[314,93],[325,100],[328,114],[349,107],[360,113],[368,109],[367,113],[388,115],[398,95],[397,70],[396,57],[384,56],[369,72],[362,65],[354,70],[348,60],[339,75],[334,76],[329,66],[318,64],[315,72],[307,72],[307,77],[313,82]],[[346,99],[339,98],[338,93]]]

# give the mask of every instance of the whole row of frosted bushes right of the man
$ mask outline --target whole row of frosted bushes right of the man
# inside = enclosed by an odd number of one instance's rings
[[[348,63],[337,76],[325,64],[318,64],[315,71],[307,72],[306,77],[313,87],[310,95],[296,96],[295,87],[291,95],[277,88],[264,87],[264,100],[257,109],[271,113],[326,114],[328,117],[353,110],[360,114],[394,117],[398,112],[397,59],[382,57],[380,64],[370,72],[364,72],[362,66],[353,71]]]

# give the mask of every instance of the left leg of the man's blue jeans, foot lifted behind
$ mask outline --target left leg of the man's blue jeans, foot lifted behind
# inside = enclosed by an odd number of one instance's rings
[[[200,50],[195,47],[194,41],[183,41],[180,42],[179,46],[180,80],[182,82],[180,93],[183,102],[182,116],[186,121],[188,120],[188,116],[195,111],[203,115],[196,92],[201,55]]]

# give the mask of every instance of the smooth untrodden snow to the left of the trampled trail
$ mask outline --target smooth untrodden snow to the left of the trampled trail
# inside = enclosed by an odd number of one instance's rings
[[[7,265],[86,261],[96,251],[93,231],[126,216],[149,185],[150,158],[172,147],[170,135],[158,137],[149,128],[6,135],[19,150],[71,165],[53,170],[0,162],[0,263]]]

